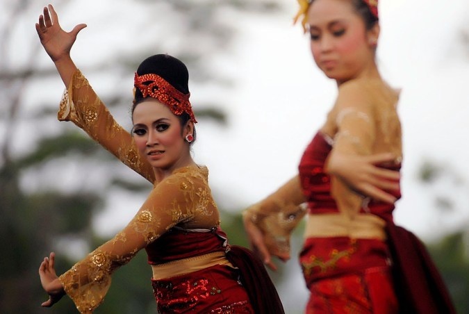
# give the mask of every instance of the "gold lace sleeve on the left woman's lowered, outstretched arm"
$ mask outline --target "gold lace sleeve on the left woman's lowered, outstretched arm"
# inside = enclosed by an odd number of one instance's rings
[[[92,313],[117,268],[176,224],[190,222],[196,215],[197,220],[205,219],[206,195],[210,195],[208,185],[190,172],[172,174],[158,183],[122,231],[59,277],[76,308]]]

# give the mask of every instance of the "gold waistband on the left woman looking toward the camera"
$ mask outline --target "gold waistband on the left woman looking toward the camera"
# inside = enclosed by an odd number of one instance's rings
[[[164,264],[151,265],[151,269],[153,270],[153,279],[160,280],[182,274],[190,274],[191,272],[203,270],[204,268],[215,265],[228,265],[233,267],[225,257],[224,252],[217,251],[200,256],[183,258],[181,260],[171,261]]]

